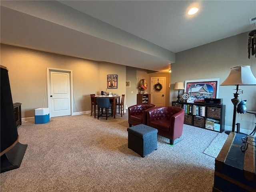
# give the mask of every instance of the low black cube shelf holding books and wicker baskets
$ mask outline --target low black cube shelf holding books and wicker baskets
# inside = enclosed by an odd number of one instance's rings
[[[225,129],[225,105],[173,101],[172,106],[185,110],[184,124],[216,132]]]

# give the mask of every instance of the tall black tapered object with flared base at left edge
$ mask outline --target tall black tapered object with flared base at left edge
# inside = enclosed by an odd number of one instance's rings
[[[4,66],[0,69],[0,173],[2,173],[20,167],[28,145],[18,142],[8,70]]]

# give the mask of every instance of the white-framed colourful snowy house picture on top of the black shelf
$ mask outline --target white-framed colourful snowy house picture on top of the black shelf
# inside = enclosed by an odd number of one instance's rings
[[[204,102],[204,98],[218,98],[220,78],[186,80],[185,92],[194,102]]]

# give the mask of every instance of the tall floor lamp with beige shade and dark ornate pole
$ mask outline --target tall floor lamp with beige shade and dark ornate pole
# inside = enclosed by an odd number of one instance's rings
[[[234,93],[234,98],[231,99],[234,105],[233,111],[233,123],[232,123],[232,132],[235,132],[236,126],[236,110],[238,104],[241,102],[239,97],[239,86],[240,85],[256,85],[256,78],[253,76],[250,66],[238,66],[231,68],[230,74],[220,85],[234,85],[236,86],[236,93]],[[226,131],[226,134],[230,134],[230,131]]]

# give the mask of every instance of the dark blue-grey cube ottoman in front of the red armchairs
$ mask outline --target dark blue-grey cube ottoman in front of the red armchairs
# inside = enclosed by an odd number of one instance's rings
[[[144,157],[157,150],[157,129],[139,124],[129,127],[127,131],[128,148],[134,150],[140,156]]]

